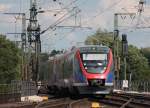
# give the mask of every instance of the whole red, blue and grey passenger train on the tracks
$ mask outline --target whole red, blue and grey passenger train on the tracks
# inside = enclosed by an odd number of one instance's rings
[[[85,45],[49,58],[51,91],[79,94],[109,94],[113,88],[114,64],[110,48]]]

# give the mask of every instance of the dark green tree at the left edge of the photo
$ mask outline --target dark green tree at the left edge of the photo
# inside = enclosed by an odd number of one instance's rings
[[[20,77],[20,50],[0,35],[0,83],[10,83]]]

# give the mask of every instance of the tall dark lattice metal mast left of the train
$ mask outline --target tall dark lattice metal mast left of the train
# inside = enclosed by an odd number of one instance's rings
[[[39,54],[41,52],[40,26],[37,20],[37,4],[36,0],[31,0],[30,19],[28,25],[28,41],[29,41],[29,78],[38,81],[39,73]]]

